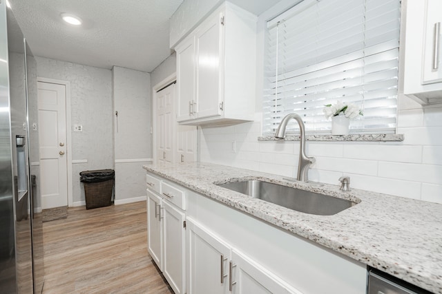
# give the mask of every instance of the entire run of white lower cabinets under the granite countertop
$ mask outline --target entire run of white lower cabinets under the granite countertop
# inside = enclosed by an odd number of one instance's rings
[[[146,179],[148,252],[175,294],[366,292],[361,262],[160,176]]]

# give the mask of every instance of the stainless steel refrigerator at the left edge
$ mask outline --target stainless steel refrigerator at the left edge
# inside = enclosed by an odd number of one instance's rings
[[[37,66],[0,0],[0,292],[41,293],[43,233],[38,193]]]

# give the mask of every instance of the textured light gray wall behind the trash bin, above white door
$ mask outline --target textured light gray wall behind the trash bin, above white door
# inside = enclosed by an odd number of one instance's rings
[[[98,67],[36,59],[39,77],[70,81],[72,125],[83,126],[83,132],[72,133],[72,158],[87,160],[73,164],[73,201],[74,205],[84,204],[79,172],[113,169],[112,73]]]

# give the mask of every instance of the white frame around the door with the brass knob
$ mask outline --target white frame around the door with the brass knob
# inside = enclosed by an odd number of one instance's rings
[[[70,112],[70,81],[55,80],[53,78],[41,78],[37,76],[37,82],[64,85],[66,88],[66,164],[68,168],[68,207],[74,206],[73,181],[72,181],[72,125]]]

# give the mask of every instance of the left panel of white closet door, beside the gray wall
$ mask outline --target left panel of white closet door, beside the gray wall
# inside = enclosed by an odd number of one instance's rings
[[[175,134],[175,84],[157,92],[157,160],[173,162],[173,134]]]

